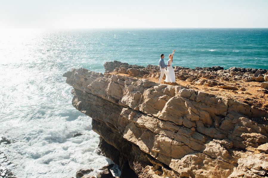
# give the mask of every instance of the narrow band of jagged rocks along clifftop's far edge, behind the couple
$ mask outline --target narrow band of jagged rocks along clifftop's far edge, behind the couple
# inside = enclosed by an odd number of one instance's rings
[[[106,73],[114,71],[120,74],[128,74],[132,77],[155,77],[159,78],[159,67],[148,65],[147,67],[130,65],[120,61],[106,62],[104,64]],[[224,70],[223,67],[196,67],[195,69],[185,68],[181,66],[174,67],[176,79],[179,80],[198,80],[203,77],[208,80],[223,80],[223,81],[254,81],[264,82],[268,81],[268,71],[266,69],[252,69],[252,68],[237,68],[231,67]],[[165,76],[164,76],[165,78]],[[215,86],[215,84],[214,84]]]

